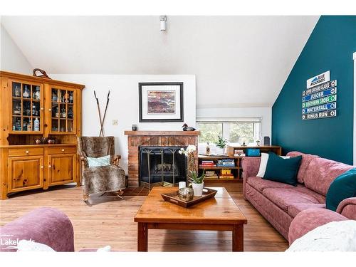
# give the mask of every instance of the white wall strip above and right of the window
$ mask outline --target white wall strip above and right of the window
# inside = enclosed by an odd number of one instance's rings
[[[198,108],[199,118],[248,118],[261,117],[261,136],[271,137],[272,108]]]

